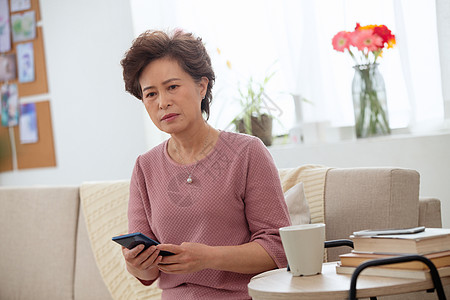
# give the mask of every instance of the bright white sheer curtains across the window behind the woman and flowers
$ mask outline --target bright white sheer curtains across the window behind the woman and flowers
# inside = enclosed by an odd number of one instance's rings
[[[311,102],[303,103],[305,122],[353,125],[353,62],[333,50],[331,39],[356,22],[384,24],[396,35],[397,45],[379,60],[391,126],[420,130],[443,120],[434,1],[130,1],[136,35],[182,28],[203,38],[217,76],[210,121],[218,128],[240,111],[239,84],[271,71],[268,94],[282,113],[275,134],[294,125],[291,94]]]

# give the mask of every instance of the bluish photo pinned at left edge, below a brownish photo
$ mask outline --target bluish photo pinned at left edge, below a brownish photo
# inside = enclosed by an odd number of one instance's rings
[[[2,95],[2,126],[17,126],[19,124],[19,95],[17,84],[4,84]]]

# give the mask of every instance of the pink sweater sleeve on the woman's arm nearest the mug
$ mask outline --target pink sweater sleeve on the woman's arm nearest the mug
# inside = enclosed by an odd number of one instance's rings
[[[250,241],[259,243],[279,268],[287,261],[279,228],[290,225],[280,177],[267,148],[259,139],[250,143],[245,187],[245,214]]]

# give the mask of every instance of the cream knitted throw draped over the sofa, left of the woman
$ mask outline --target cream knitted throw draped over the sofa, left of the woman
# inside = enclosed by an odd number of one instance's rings
[[[128,232],[129,180],[83,183],[81,204],[102,278],[114,299],[160,299],[156,284],[142,285],[126,270],[120,245],[111,238]]]

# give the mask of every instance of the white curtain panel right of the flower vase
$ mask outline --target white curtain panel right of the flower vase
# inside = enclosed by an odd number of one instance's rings
[[[426,2],[426,3],[424,3]],[[438,128],[444,118],[434,1],[395,0],[398,60],[410,105],[412,131]],[[402,106],[396,109],[401,112]]]

